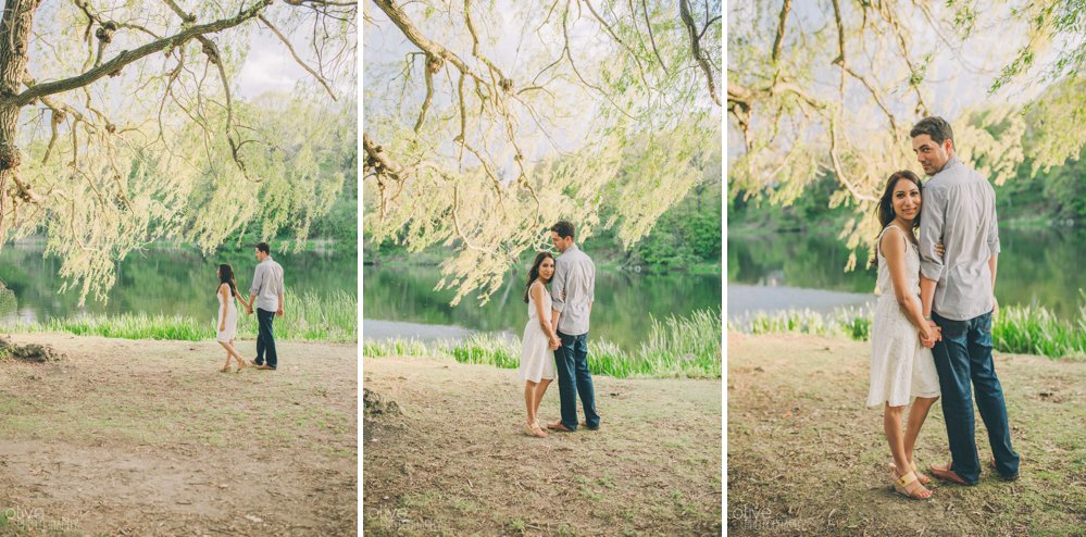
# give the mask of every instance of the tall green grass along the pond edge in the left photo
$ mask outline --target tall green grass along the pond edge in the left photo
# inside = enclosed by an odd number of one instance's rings
[[[295,341],[358,341],[358,298],[346,291],[320,297],[307,292],[284,297],[285,315],[276,317],[275,338]],[[257,315],[238,315],[238,339],[257,338]],[[46,323],[16,323],[2,327],[16,333],[60,332],[77,336],[124,339],[204,341],[215,338],[214,319],[180,315],[79,315]]]

